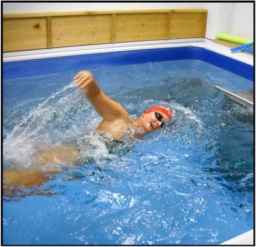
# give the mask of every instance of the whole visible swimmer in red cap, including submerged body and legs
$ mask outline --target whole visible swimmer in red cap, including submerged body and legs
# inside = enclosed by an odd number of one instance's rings
[[[100,90],[93,74],[82,70],[74,77],[75,86],[80,88],[87,99],[95,107],[103,120],[97,130],[112,140],[120,140],[127,130],[135,138],[142,138],[165,125],[172,112],[161,106],[151,106],[138,119],[130,119],[128,112],[116,101],[110,99]],[[73,165],[79,159],[79,151],[70,144],[62,144],[43,149],[35,156],[35,164],[39,168],[31,170],[7,170],[4,172],[4,188],[9,185],[35,186],[48,181],[58,169],[40,169],[44,165],[57,165],[60,162]]]

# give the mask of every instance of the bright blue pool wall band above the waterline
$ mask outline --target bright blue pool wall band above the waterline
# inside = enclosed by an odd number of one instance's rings
[[[182,48],[144,49],[139,51],[119,51],[99,54],[33,59],[28,61],[4,62],[4,80],[49,75],[67,71],[97,69],[113,65],[141,64],[184,59],[196,59],[216,65],[221,69],[254,81],[254,67],[230,57],[223,56],[204,48],[193,46]]]

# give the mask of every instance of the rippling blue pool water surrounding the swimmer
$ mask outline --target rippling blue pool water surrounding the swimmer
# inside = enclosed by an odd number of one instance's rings
[[[30,168],[38,147],[87,140],[82,164],[4,193],[4,244],[213,245],[253,228],[253,111],[214,88],[252,81],[198,60],[92,72],[133,117],[161,104],[173,119],[113,151],[72,88],[77,71],[4,80],[4,169]]]

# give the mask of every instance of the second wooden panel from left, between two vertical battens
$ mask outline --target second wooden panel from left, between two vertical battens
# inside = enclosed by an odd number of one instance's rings
[[[53,47],[111,42],[111,15],[52,17]]]

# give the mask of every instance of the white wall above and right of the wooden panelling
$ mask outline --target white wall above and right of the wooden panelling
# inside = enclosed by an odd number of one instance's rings
[[[217,33],[254,38],[252,2],[4,2],[3,13],[61,12],[122,9],[208,9],[206,37]]]

